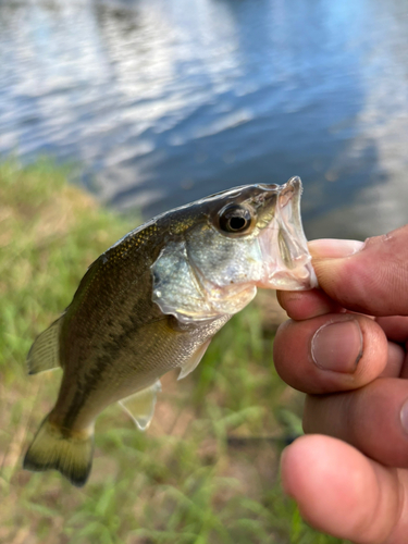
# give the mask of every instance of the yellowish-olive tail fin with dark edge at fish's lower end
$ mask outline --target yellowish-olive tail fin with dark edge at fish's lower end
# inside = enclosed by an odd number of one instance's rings
[[[92,432],[61,429],[47,417],[25,455],[23,467],[34,471],[57,469],[81,487],[88,479],[92,455]]]

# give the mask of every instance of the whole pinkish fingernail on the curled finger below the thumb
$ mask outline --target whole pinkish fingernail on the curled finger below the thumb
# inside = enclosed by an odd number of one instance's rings
[[[362,333],[356,320],[324,324],[311,341],[311,356],[323,370],[353,374],[362,356]]]

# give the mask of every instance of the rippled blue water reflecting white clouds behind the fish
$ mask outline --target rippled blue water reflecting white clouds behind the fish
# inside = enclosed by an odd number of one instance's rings
[[[305,184],[309,237],[407,222],[406,0],[0,0],[0,153],[145,218]]]

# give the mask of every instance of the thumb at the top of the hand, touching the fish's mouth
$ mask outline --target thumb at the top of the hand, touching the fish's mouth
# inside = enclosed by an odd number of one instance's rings
[[[320,287],[344,308],[408,316],[408,225],[382,236],[309,243]]]

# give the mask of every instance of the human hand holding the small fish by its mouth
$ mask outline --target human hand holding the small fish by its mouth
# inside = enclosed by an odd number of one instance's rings
[[[309,248],[321,289],[279,293],[292,320],[274,361],[307,393],[307,434],[283,454],[283,486],[320,531],[407,544],[408,225]]]

